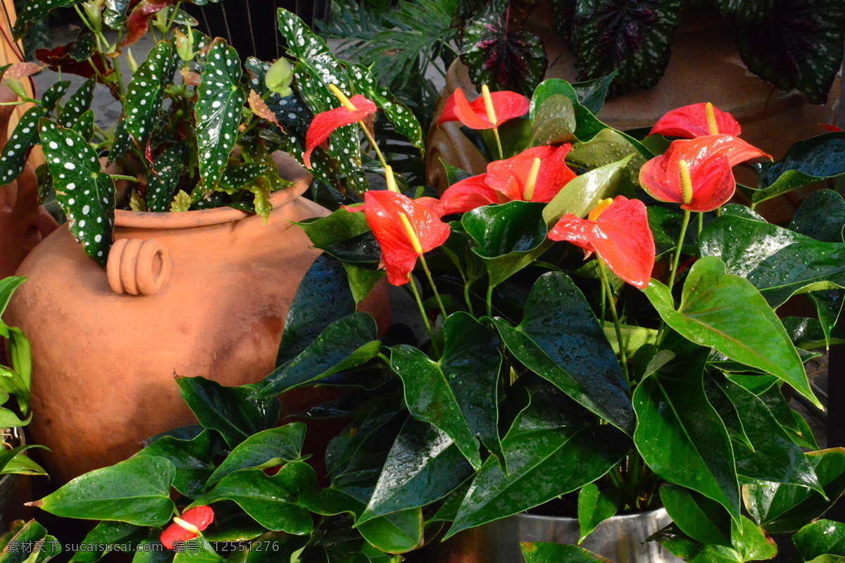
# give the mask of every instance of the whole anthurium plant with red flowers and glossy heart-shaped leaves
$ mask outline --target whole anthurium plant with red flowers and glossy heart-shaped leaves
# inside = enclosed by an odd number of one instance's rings
[[[433,197],[383,160],[368,120],[386,104],[355,67],[284,11],[280,30],[295,80],[323,89],[297,158],[348,164],[346,138],[366,137],[386,189],[301,224],[324,254],[262,382],[177,376],[198,425],[32,503],[99,522],[72,560],[123,545],[137,561],[399,560],[520,512],[577,517],[583,539],[661,506],[673,523],[651,540],[694,563],[770,560],[772,533],[806,561],[843,555],[842,525],[814,520],[845,490],[845,449],[819,450],[787,396],[820,406],[804,363],[842,342],[845,200],[815,192],[789,225],[754,207],[845,175],[845,133],[772,162],[708,103],[635,138],[597,118],[595,84],[456,92],[447,119],[490,163],[447,167]],[[379,331],[357,304],[384,276],[409,312]],[[817,314],[778,316],[808,298]],[[283,413],[303,387],[335,399]],[[324,450],[303,446],[339,420]],[[44,537],[30,522],[3,541]]]

